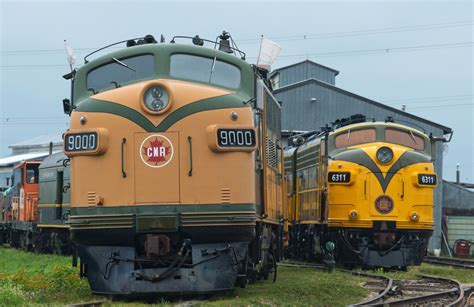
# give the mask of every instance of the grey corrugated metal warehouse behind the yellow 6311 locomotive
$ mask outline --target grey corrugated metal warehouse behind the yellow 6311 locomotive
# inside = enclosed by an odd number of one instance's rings
[[[310,60],[282,67],[271,73],[273,93],[282,104],[283,135],[288,137],[295,131],[317,130],[337,119],[354,114],[363,114],[377,121],[392,117],[395,122],[407,124],[440,138],[448,137],[452,133],[451,128],[337,87],[338,74],[337,70]],[[435,189],[435,229],[430,241],[430,251],[441,248],[442,240],[442,142],[436,144],[435,170],[439,182]]]

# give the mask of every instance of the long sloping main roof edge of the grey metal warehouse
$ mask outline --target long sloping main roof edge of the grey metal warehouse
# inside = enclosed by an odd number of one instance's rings
[[[286,91],[289,91],[289,90],[292,90],[292,89],[295,89],[295,88],[298,88],[298,87],[301,87],[301,86],[304,86],[304,85],[307,85],[307,84],[317,84],[317,85],[320,85],[320,86],[322,86],[322,87],[326,87],[326,88],[331,89],[331,90],[333,90],[333,91],[339,92],[339,93],[341,93],[341,94],[344,94],[344,95],[353,97],[353,98],[355,98],[355,99],[361,100],[361,101],[363,101],[363,102],[372,104],[372,105],[374,105],[374,106],[377,106],[377,107],[380,107],[380,108],[384,108],[384,109],[386,109],[386,110],[389,110],[389,111],[394,112],[394,113],[401,114],[401,115],[403,115],[403,116],[410,117],[410,118],[415,119],[415,120],[417,120],[417,121],[420,121],[420,122],[423,122],[423,123],[425,123],[425,124],[428,124],[428,125],[437,127],[437,128],[439,128],[439,129],[442,129],[443,132],[444,132],[444,134],[452,133],[452,131],[453,131],[453,130],[452,130],[451,128],[449,128],[449,127],[440,125],[440,124],[438,124],[438,123],[435,123],[435,122],[432,122],[432,121],[430,121],[430,120],[424,119],[424,118],[422,118],[422,117],[419,117],[419,116],[416,116],[416,115],[407,113],[407,112],[405,112],[405,111],[402,111],[402,110],[399,110],[399,109],[390,107],[390,106],[385,105],[385,104],[383,104],[383,103],[380,103],[380,102],[377,102],[377,101],[374,101],[374,100],[371,100],[371,99],[368,99],[368,98],[359,96],[359,95],[357,95],[357,94],[354,94],[354,93],[352,93],[352,92],[346,91],[346,90],[344,90],[344,89],[342,89],[342,88],[339,88],[339,87],[337,87],[337,86],[331,85],[331,84],[326,83],[326,82],[319,81],[319,80],[314,79],[314,78],[310,78],[310,79],[307,79],[307,80],[304,80],[304,81],[300,81],[300,82],[296,82],[296,83],[293,83],[293,84],[289,84],[289,85],[280,87],[280,88],[274,90],[273,93],[274,93],[274,94],[278,94],[278,93],[281,93],[281,92],[286,92]]]

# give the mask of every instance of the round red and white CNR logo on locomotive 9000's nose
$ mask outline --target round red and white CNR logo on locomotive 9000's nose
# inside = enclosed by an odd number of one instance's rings
[[[140,157],[147,166],[160,168],[173,159],[174,149],[171,141],[164,135],[153,134],[140,145]]]

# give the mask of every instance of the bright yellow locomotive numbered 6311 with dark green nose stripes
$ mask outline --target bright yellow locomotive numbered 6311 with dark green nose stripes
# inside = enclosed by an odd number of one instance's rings
[[[296,137],[300,144],[285,151],[290,254],[334,252],[339,262],[369,267],[420,264],[437,184],[430,137],[353,119]]]

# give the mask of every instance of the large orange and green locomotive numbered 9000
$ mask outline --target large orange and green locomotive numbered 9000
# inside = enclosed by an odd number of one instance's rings
[[[65,76],[70,232],[95,293],[219,291],[275,267],[280,106],[219,38],[123,41]]]

